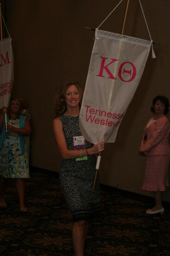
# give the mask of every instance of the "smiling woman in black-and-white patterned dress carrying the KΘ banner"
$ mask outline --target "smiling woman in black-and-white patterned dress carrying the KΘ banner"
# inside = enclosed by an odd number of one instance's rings
[[[73,245],[76,256],[84,255],[88,220],[100,211],[99,177],[95,189],[95,154],[104,149],[104,141],[86,141],[79,128],[82,89],[76,81],[65,82],[56,95],[54,134],[63,157],[60,185],[73,216]]]

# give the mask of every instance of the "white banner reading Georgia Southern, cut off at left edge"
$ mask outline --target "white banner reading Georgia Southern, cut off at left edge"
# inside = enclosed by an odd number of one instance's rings
[[[13,87],[13,49],[11,38],[0,40],[0,108],[8,106]]]

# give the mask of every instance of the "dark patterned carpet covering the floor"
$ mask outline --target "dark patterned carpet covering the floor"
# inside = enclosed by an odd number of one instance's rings
[[[72,219],[57,173],[32,168],[26,181],[27,213],[19,212],[14,181],[0,208],[0,256],[72,256]],[[85,256],[170,256],[170,204],[148,216],[153,199],[101,186],[101,218],[89,223]]]

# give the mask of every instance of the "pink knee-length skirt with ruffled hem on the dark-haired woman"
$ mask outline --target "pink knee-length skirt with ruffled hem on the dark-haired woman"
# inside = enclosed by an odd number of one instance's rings
[[[166,187],[169,186],[169,162],[170,155],[147,155],[142,189],[147,191],[165,191]]]

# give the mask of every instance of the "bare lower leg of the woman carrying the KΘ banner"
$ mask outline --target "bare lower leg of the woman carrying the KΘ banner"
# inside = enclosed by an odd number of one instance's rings
[[[75,256],[84,255],[86,221],[78,221],[73,224],[73,245]]]

